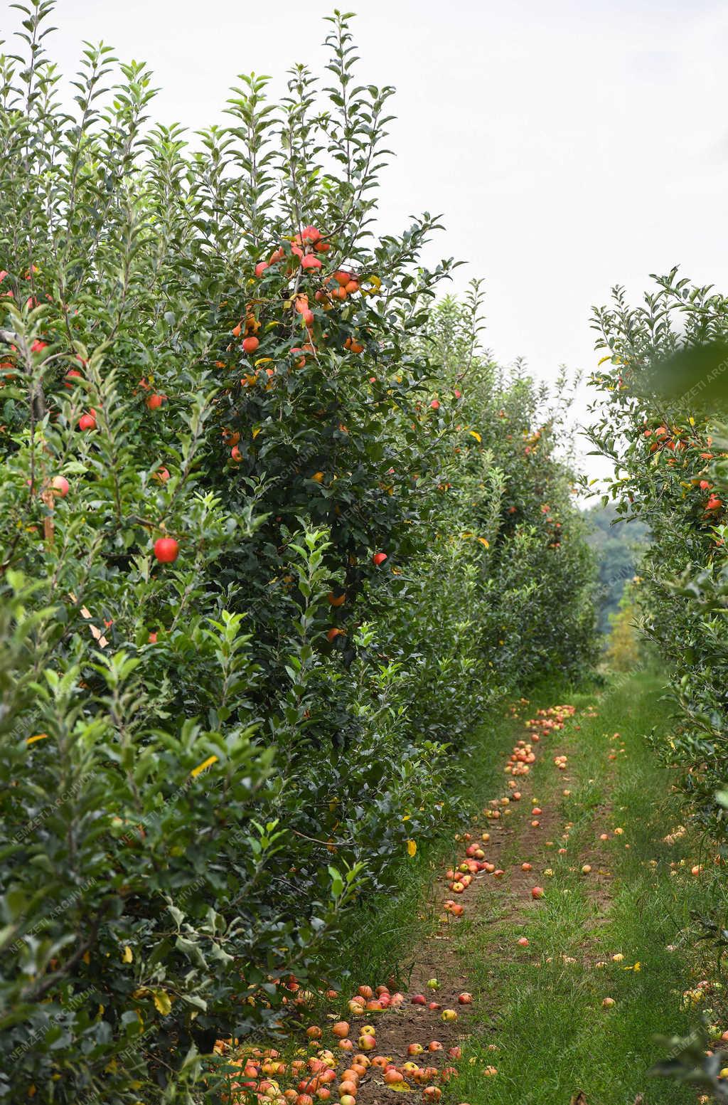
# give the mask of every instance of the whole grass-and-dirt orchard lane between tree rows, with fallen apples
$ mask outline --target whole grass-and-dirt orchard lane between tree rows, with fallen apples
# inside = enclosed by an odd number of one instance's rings
[[[648,1076],[664,1056],[655,1034],[694,1027],[689,996],[711,993],[714,969],[686,950],[697,842],[675,834],[671,778],[645,740],[660,695],[658,678],[635,676],[601,696],[510,707],[503,782],[442,856],[425,935],[401,949],[411,972],[392,965],[393,977],[362,980],[386,987],[384,1009],[362,1008],[367,993],[352,985],[312,1011],[323,1033],[314,1046],[329,1049],[336,1078],[293,1088],[281,1078],[292,1105],[294,1088],[297,1105],[395,1105],[402,1094],[443,1105],[694,1105],[693,1091]],[[728,1007],[725,1018],[724,1028]],[[341,1021],[354,1051],[339,1057],[331,1028]],[[362,1063],[350,1062],[356,1053]],[[297,1076],[320,1075],[316,1063]]]

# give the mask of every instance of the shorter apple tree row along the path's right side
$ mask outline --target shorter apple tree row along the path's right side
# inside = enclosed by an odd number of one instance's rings
[[[652,535],[633,593],[673,674],[655,747],[726,855],[716,793],[728,776],[728,301],[677,270],[655,280],[639,306],[616,288],[595,314],[604,402],[592,436],[618,465],[619,513]]]

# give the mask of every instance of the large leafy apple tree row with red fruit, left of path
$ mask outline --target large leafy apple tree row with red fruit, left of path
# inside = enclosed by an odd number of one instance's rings
[[[0,66],[0,1097],[213,1102],[473,719],[590,663],[592,564],[436,220],[373,233],[347,19],[189,149],[107,48],[66,112],[51,8]]]

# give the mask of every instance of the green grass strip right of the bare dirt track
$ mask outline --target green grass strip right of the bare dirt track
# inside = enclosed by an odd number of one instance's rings
[[[694,957],[668,947],[679,945],[690,911],[706,904],[709,881],[693,878],[689,866],[671,867],[690,848],[696,853],[695,841],[663,843],[677,824],[671,780],[645,740],[660,713],[660,687],[644,675],[621,682],[598,701],[598,717],[581,722],[581,733],[570,728],[569,797],[561,796],[559,772],[539,767],[539,800],[559,802],[561,824],[573,822],[568,854],[545,851],[542,864],[553,876],[544,880],[546,898],[526,911],[525,923],[488,928],[486,940],[482,925],[460,930],[478,1023],[450,1098],[568,1105],[581,1090],[589,1105],[632,1105],[639,1093],[650,1105],[695,1102],[694,1091],[647,1076],[664,1056],[655,1033],[687,1033],[697,1020],[682,997],[696,983]],[[614,733],[625,751],[609,760],[619,747]],[[580,873],[581,854],[601,831],[598,817],[605,829],[624,829],[601,845],[613,876],[608,897],[595,897],[594,881]],[[524,934],[526,949],[516,946]],[[618,954],[624,959],[613,962]],[[605,997],[614,999],[611,1009],[602,1008]],[[490,1064],[498,1073],[485,1077]]]

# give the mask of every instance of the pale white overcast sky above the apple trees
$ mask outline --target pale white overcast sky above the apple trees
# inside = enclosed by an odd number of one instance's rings
[[[326,0],[60,0],[50,52],[144,59],[155,115],[221,122],[235,75],[320,72]],[[1,32],[17,25],[7,0]],[[555,377],[595,364],[590,306],[679,264],[728,291],[728,3],[367,0],[360,76],[394,84],[381,223],[442,212],[431,260],[485,280],[486,344]]]

